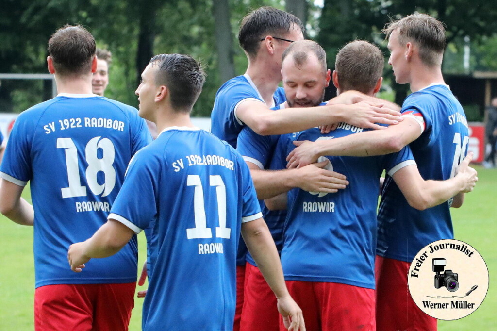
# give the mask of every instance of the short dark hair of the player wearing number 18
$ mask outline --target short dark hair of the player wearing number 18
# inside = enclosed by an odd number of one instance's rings
[[[90,73],[95,48],[95,39],[81,25],[65,25],[48,41],[48,54],[56,72],[62,75]]]

